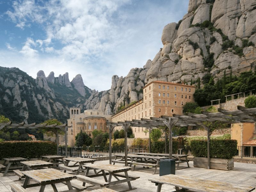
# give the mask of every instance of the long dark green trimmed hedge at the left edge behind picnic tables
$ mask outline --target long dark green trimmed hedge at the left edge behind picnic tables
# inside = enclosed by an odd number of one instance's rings
[[[0,142],[0,159],[6,157],[36,158],[57,154],[57,144],[52,141],[4,141]]]

